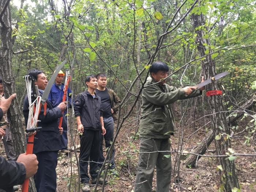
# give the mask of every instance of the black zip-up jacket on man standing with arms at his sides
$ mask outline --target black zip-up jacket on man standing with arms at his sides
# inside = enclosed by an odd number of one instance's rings
[[[103,116],[101,98],[95,94],[95,98],[84,91],[76,96],[74,103],[75,117],[80,116],[84,129],[101,130],[99,117]]]

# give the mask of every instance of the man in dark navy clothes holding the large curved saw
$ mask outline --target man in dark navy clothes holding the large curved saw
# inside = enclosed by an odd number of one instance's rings
[[[42,95],[47,86],[47,78],[43,71],[34,69],[29,72],[36,81],[39,94]],[[61,149],[60,131],[58,119],[62,116],[62,111],[66,109],[66,103],[61,102],[56,108],[46,100],[47,109],[44,115],[44,108],[41,107],[41,112],[38,117],[38,127],[42,127],[35,135],[33,153],[37,155],[38,171],[35,174],[35,187],[37,192],[55,192],[56,191],[56,166],[57,153]],[[29,116],[29,101],[26,95],[23,103],[23,114],[25,123]]]

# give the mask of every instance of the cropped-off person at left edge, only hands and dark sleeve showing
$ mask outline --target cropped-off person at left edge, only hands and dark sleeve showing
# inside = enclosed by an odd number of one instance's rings
[[[8,99],[1,98],[0,119],[7,112],[15,97],[16,94],[12,94]],[[4,130],[0,128],[0,138],[4,134]],[[34,154],[20,154],[16,162],[0,157],[0,191],[12,192],[14,185],[23,184],[25,178],[29,178],[37,172],[37,165],[37,157]]]

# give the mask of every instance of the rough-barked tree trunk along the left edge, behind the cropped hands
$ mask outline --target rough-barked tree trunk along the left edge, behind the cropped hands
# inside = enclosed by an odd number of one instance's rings
[[[12,75],[12,26],[11,26],[11,10],[9,4],[10,0],[0,1],[0,22],[1,22],[1,48],[0,48],[0,75],[3,78],[4,95],[6,98],[10,97],[12,93],[16,93],[14,76]],[[3,16],[1,16],[3,15]],[[22,124],[22,115],[19,109],[17,98],[12,102],[12,105],[7,113],[8,121],[10,123],[10,130],[12,133],[12,142],[16,155],[25,153],[26,137]],[[30,180],[31,181],[31,180]],[[30,192],[34,192],[34,181],[31,183]]]

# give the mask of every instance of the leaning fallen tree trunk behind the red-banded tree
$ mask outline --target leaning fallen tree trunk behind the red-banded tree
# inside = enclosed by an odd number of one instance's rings
[[[255,103],[256,103],[255,95],[253,95],[253,97],[250,100],[248,100],[246,103],[244,103],[240,108],[241,108],[241,110],[250,110],[252,108],[252,106],[255,105]],[[243,114],[244,113],[239,113],[237,116],[233,116],[232,114],[230,114],[226,118],[227,123],[232,124],[234,121],[236,121],[238,118],[240,118]],[[208,123],[210,123],[210,122],[208,122]],[[210,146],[213,139],[214,139],[214,134],[213,134],[212,130],[210,130],[207,133],[206,137],[203,139],[203,141],[199,144],[199,146],[197,146],[197,148],[195,150],[193,150],[192,153],[203,155],[204,153],[206,153],[206,150]],[[194,167],[196,162],[200,158],[201,158],[201,156],[189,155],[189,157],[184,161],[184,164],[187,167]]]

